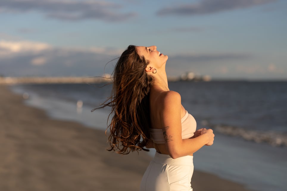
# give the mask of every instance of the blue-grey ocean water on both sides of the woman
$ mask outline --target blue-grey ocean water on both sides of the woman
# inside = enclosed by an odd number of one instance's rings
[[[25,84],[11,89],[51,117],[105,130],[109,108],[91,112],[110,96],[111,85],[103,85]],[[287,82],[169,82],[169,89],[180,93],[198,129],[215,132],[214,144],[194,154],[195,169],[253,190],[286,190]]]

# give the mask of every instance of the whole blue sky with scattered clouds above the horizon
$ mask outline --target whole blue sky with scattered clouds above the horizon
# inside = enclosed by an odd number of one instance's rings
[[[102,76],[130,44],[168,76],[287,79],[285,0],[1,0],[0,75]]]

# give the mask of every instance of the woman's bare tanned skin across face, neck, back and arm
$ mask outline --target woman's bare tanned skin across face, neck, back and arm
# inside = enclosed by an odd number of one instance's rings
[[[170,91],[168,87],[165,71],[168,56],[160,54],[156,46],[136,48],[138,54],[149,61],[146,72],[154,79],[150,89],[151,128],[162,129],[166,142],[156,144],[151,141],[146,147],[155,148],[158,153],[169,154],[175,159],[192,156],[202,146],[212,145],[214,140],[212,129],[198,129],[189,139],[181,137],[181,118],[185,115],[185,109],[181,105],[180,94]]]

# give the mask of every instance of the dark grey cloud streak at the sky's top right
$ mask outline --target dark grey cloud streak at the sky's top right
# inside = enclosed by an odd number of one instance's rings
[[[157,15],[203,15],[216,12],[242,9],[277,0],[202,0],[194,4],[166,7],[157,11]]]

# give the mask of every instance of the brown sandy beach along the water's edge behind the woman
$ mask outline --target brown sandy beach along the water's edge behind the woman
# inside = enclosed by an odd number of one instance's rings
[[[104,131],[49,118],[0,85],[0,190],[138,190],[151,160],[144,151],[106,151]],[[97,122],[95,121],[95,126]],[[243,185],[195,171],[194,191],[247,191]]]

